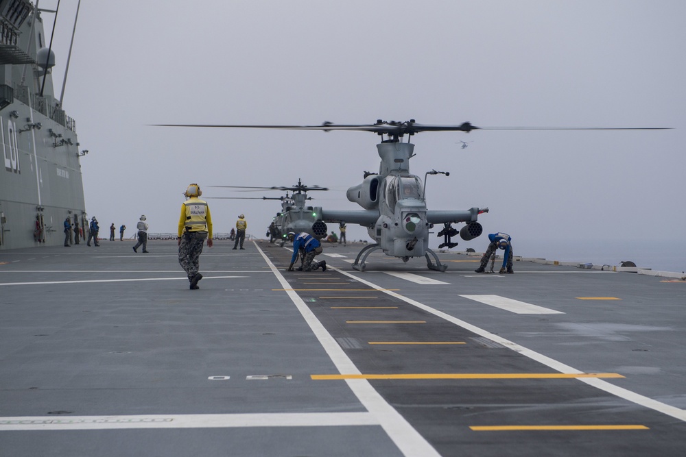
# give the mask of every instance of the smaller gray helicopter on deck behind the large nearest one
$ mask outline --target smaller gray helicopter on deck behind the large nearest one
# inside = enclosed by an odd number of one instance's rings
[[[285,190],[285,197],[261,197],[263,200],[281,200],[281,211],[276,213],[272,220],[274,228],[278,230],[276,236],[279,237],[281,246],[286,242],[288,232],[307,232],[317,239],[321,239],[327,234],[327,224],[322,221],[322,208],[320,206],[308,206],[307,201],[312,197],[307,197],[307,193],[312,190],[329,190],[322,186],[306,186],[298,178],[298,184],[294,186],[272,186],[272,187],[253,187],[253,186],[209,186],[220,188],[236,188],[250,190]],[[288,192],[293,194],[289,197]],[[210,198],[210,197],[208,197]],[[258,197],[214,197],[224,199],[246,199]]]

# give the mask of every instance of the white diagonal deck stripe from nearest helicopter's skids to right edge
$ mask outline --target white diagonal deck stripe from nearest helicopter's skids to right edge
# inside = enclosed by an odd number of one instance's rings
[[[384,288],[377,286],[376,284],[372,284],[371,282],[363,280],[359,276],[352,275],[351,273],[348,273],[347,271],[342,271],[342,270],[336,269],[336,268],[333,268],[333,269],[335,271],[338,271],[339,273],[342,273],[348,277],[353,278],[354,280],[362,282],[362,284],[366,284],[372,288],[375,288],[379,292],[387,293],[391,297],[396,297],[397,299],[401,299],[401,300],[405,301],[405,303],[407,303],[407,304],[410,304],[412,306],[416,306],[417,308],[419,308],[421,310],[425,310],[426,312],[434,314],[434,316],[438,316],[442,319],[445,319],[446,321],[454,323],[455,325],[459,325],[460,327],[464,328],[465,330],[469,330],[470,332],[473,332],[479,336],[483,336],[484,338],[488,338],[490,341],[498,343],[499,345],[509,347],[513,351],[519,352],[519,354],[522,354],[523,356],[527,356],[528,358],[530,358],[532,360],[536,360],[536,362],[540,362],[543,365],[545,365],[546,367],[550,367],[554,370],[559,371],[560,373],[583,373],[583,371],[580,371],[576,368],[570,367],[569,365],[565,365],[563,362],[558,362],[558,360],[555,360],[554,358],[550,358],[548,356],[544,356],[543,354],[539,354],[538,352],[532,351],[531,349],[520,346],[517,343],[512,343],[512,341],[510,341],[510,340],[507,340],[505,338],[501,338],[500,336],[497,336],[496,334],[490,333],[490,332],[488,332],[482,328],[477,327],[476,325],[472,325],[469,322],[462,321],[462,319],[458,319],[456,317],[453,317],[450,314],[436,310],[434,308],[431,308],[430,306],[426,306],[425,304],[422,304],[419,301],[416,301],[416,300],[413,300],[413,299],[410,299],[407,297],[403,297],[403,295],[400,295],[399,293],[395,293],[393,291],[388,291]],[[640,405],[640,406],[645,406],[646,408],[650,408],[650,409],[655,410],[657,412],[661,412],[667,416],[674,417],[675,419],[686,422],[686,410],[683,410],[681,408],[676,408],[675,406],[670,406],[670,405],[664,404],[662,402],[658,402],[657,400],[654,400],[650,397],[646,397],[644,395],[640,395],[638,393],[629,391],[626,388],[617,387],[613,384],[610,384],[609,382],[607,382],[605,380],[601,380],[598,378],[578,378],[578,380],[580,382],[585,382],[586,384],[589,384],[593,387],[599,388],[601,391],[605,391],[607,393],[611,393],[612,395],[616,395],[619,398],[623,398],[623,399],[627,400],[628,402],[632,402],[632,403],[635,403],[635,404]]]

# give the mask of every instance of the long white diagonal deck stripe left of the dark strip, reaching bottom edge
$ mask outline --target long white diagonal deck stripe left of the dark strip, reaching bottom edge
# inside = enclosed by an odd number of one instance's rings
[[[324,325],[315,317],[314,313],[307,307],[298,294],[292,290],[292,286],[285,280],[281,274],[264,252],[255,244],[257,250],[264,258],[265,262],[274,272],[276,279],[281,282],[283,288],[286,289],[288,297],[293,301],[300,314],[311,328],[314,335],[317,337],[324,351],[327,351],[329,358],[338,369],[339,373],[346,374],[362,374],[359,369],[355,367],[350,358],[345,354],[342,347],[335,341],[333,336],[327,332]],[[338,269],[336,269],[338,270]],[[291,289],[291,290],[289,290]],[[381,395],[372,387],[368,380],[345,380],[348,387],[355,394],[359,402],[379,421],[379,425],[388,434],[390,439],[398,446],[403,455],[406,457],[440,457],[436,449],[432,447],[426,439],[424,439],[419,432],[414,430],[412,425],[408,423],[405,418],[397,412],[388,402],[386,402]]]

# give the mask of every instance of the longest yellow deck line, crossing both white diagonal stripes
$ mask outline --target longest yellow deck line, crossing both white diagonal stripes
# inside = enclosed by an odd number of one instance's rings
[[[510,380],[624,378],[619,373],[408,373],[401,375],[310,375],[313,380]]]

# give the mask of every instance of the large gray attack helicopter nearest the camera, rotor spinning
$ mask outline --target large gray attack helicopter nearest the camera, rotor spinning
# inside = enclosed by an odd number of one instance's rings
[[[368,235],[375,243],[367,245],[355,258],[353,269],[364,271],[365,260],[372,251],[381,249],[387,256],[410,258],[424,256],[427,267],[445,271],[447,265],[441,264],[436,253],[429,249],[429,230],[434,224],[443,224],[438,234],[444,236],[442,246],[455,247],[451,238],[458,233],[463,240],[471,240],[483,232],[478,222],[479,214],[488,208],[476,206],[468,210],[428,210],[423,184],[420,177],[410,173],[410,158],[415,156],[414,144],[410,138],[421,132],[472,132],[482,130],[632,130],[663,129],[664,127],[477,127],[469,122],[460,125],[419,124],[410,121],[382,121],[373,124],[334,124],[322,125],[190,125],[158,124],[164,127],[220,127],[220,128],[257,128],[257,129],[296,129],[296,130],[333,130],[372,132],[381,136],[377,153],[381,158],[379,173],[364,173],[361,184],[348,188],[349,201],[357,203],[362,210],[329,210],[313,208],[313,223],[353,223],[366,227]],[[407,143],[403,137],[407,135]],[[384,136],[386,138],[384,139]],[[430,172],[427,172],[427,175]],[[442,172],[436,172],[442,173]],[[431,173],[433,174],[433,173]],[[425,176],[426,177],[426,176]],[[453,223],[465,223],[458,231]],[[325,230],[324,230],[325,233]],[[432,259],[434,262],[432,262]]]

